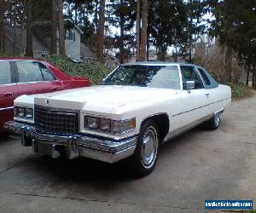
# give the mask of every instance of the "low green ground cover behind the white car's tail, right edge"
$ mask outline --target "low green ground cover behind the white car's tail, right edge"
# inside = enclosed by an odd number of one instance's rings
[[[247,86],[238,84],[229,84],[229,86],[232,89],[232,99],[234,100],[239,100],[241,98],[247,98],[255,95],[254,90]]]

